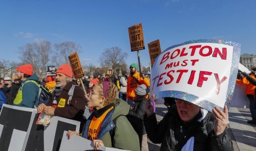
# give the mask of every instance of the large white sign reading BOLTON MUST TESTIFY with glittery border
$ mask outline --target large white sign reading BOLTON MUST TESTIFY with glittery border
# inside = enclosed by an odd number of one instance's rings
[[[175,97],[212,111],[229,106],[240,57],[240,44],[191,40],[174,45],[156,59],[150,97]]]

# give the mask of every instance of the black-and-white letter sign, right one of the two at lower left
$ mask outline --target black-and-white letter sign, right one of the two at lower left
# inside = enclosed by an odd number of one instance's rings
[[[38,115],[37,115],[38,117]],[[54,116],[48,126],[36,125],[36,119],[33,119],[33,125],[28,138],[28,142],[23,145],[23,150],[59,150],[64,131],[79,131],[80,122]]]

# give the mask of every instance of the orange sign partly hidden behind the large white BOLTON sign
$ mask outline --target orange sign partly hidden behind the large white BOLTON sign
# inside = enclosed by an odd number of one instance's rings
[[[156,57],[161,53],[159,39],[155,40],[154,42],[148,43],[148,48],[149,48],[149,57],[151,61],[151,66],[153,66],[156,60]]]

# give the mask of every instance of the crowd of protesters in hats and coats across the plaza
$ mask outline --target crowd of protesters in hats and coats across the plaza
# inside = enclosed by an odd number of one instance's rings
[[[157,123],[154,100],[148,98],[150,79],[137,69],[132,63],[129,73],[119,76],[74,79],[71,67],[64,64],[56,74],[39,79],[30,64],[22,65],[17,79],[0,79],[0,108],[2,104],[37,108],[38,113],[80,121],[80,131],[68,131],[68,137],[80,135],[94,142],[96,149],[149,150],[149,138],[161,143],[160,150],[233,150],[226,106],[211,113],[185,100],[165,98],[168,112]],[[256,124],[255,72],[244,77],[237,83],[250,89],[253,120],[248,123]],[[40,86],[50,92],[47,102],[37,101]]]

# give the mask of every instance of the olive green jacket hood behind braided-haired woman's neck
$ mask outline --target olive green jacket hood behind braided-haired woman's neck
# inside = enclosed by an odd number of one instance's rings
[[[118,117],[119,115],[127,115],[129,113],[129,104],[126,103],[126,101],[123,101],[120,98],[116,99],[116,102],[114,103],[115,106],[115,110],[112,114],[112,119],[115,119],[116,117]]]

